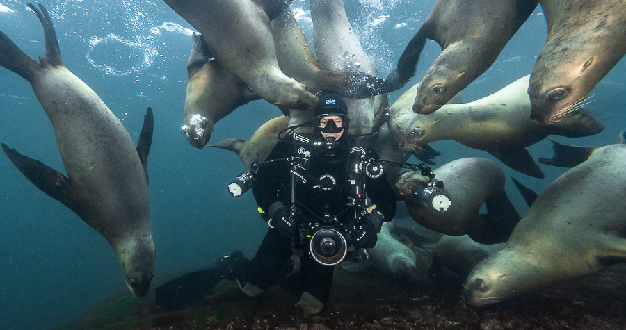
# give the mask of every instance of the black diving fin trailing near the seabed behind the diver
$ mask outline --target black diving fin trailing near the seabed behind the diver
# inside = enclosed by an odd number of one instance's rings
[[[175,311],[187,306],[200,304],[209,291],[222,279],[229,277],[232,265],[243,258],[241,251],[219,258],[202,270],[188,272],[172,279],[155,290],[157,305],[166,311]],[[230,279],[230,277],[229,277]]]

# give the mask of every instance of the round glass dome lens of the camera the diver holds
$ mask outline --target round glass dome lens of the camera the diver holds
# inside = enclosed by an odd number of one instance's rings
[[[334,266],[346,258],[348,245],[346,238],[337,229],[323,227],[311,236],[309,251],[318,263]]]

